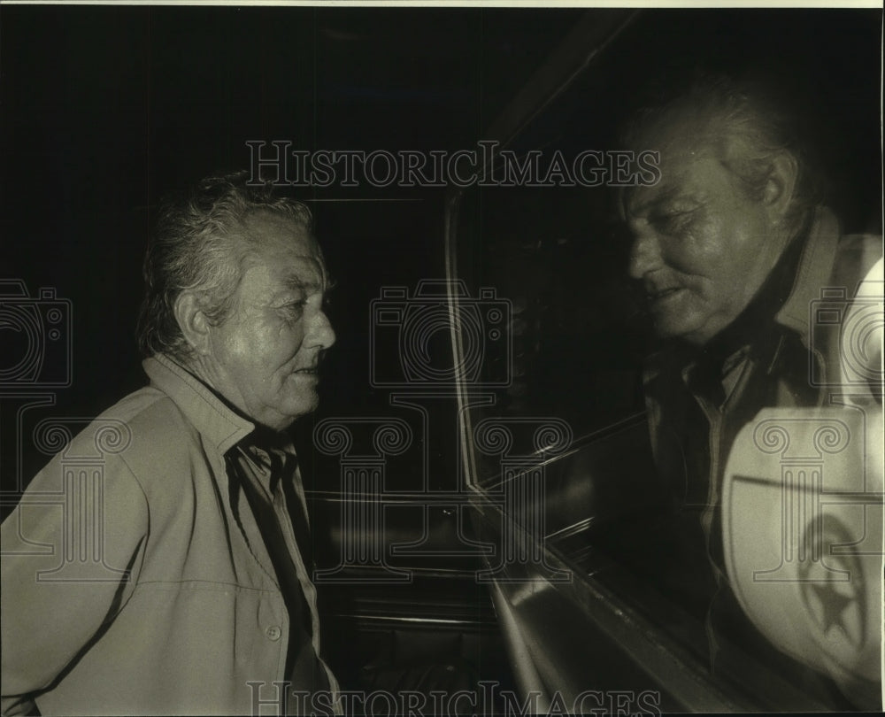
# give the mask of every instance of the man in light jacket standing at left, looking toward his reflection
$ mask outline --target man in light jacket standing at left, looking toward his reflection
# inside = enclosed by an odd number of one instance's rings
[[[298,709],[292,691],[334,713],[284,433],[317,407],[335,343],[311,214],[244,173],[206,179],[162,213],[144,276],[150,385],[74,437],[3,524],[3,713],[276,712]],[[78,480],[63,455],[109,433],[95,505],[41,501]],[[73,531],[98,536],[97,563],[65,553]]]

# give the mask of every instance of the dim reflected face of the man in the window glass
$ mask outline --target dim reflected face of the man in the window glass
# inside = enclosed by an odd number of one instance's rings
[[[658,335],[703,345],[750,303],[781,247],[764,204],[723,164],[734,143],[674,118],[647,131],[643,148],[660,151],[661,179],[623,197],[629,274],[643,282]]]

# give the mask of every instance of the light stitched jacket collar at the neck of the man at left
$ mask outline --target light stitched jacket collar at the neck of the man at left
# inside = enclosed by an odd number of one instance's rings
[[[142,362],[151,384],[172,398],[194,428],[224,454],[249,436],[255,424],[227,406],[212,389],[165,354]]]

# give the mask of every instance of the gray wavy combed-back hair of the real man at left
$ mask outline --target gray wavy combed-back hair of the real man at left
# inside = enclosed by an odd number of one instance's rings
[[[195,291],[215,325],[230,312],[250,246],[244,222],[253,212],[281,214],[312,231],[311,211],[300,202],[273,197],[272,185],[249,186],[247,172],[207,177],[189,196],[168,202],[144,258],[145,295],[138,320],[142,355],[166,353],[187,359],[189,344],[175,320],[175,301]]]

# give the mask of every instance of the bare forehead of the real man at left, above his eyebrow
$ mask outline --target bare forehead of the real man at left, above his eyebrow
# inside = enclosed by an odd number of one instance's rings
[[[327,270],[319,243],[308,227],[286,214],[260,211],[244,221],[247,234],[246,261],[262,263],[271,274],[304,289],[327,288]]]

